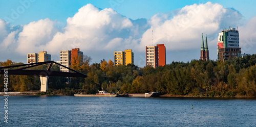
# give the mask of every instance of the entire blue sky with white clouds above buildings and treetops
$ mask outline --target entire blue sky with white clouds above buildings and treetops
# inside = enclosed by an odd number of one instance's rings
[[[134,64],[145,66],[145,46],[165,44],[166,64],[200,59],[202,33],[209,58],[217,59],[217,38],[238,27],[242,54],[256,53],[256,1],[1,1],[0,61],[26,63],[27,53],[78,47],[92,63],[132,49]],[[152,35],[152,30],[154,31]]]

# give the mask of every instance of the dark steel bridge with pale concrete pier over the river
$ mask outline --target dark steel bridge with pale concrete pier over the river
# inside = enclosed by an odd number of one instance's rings
[[[44,65],[44,64],[49,64],[47,70],[26,70],[27,68]],[[73,72],[63,72],[63,71],[51,70],[51,67],[53,64],[57,64],[61,67],[67,68]],[[15,69],[16,67],[21,67],[21,68]],[[9,69],[9,68],[14,68],[14,69]],[[86,74],[78,72],[69,67],[63,66],[54,61],[0,67],[0,74],[4,74],[5,69],[8,69],[8,74],[11,74],[11,75],[37,75],[37,76],[39,76],[40,81],[41,81],[41,89],[40,89],[41,92],[47,91],[49,77],[74,77],[74,78],[86,78],[87,77]]]

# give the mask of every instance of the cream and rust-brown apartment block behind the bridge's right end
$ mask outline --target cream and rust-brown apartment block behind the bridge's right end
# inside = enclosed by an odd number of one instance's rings
[[[74,59],[80,58],[83,60],[83,52],[79,48],[72,48],[71,50],[60,50],[59,51],[59,62],[61,65],[70,67]],[[69,69],[59,66],[60,71],[69,72]]]

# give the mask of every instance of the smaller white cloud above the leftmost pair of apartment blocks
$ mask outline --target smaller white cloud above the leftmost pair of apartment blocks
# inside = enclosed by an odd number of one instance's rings
[[[43,50],[44,45],[52,40],[57,32],[54,24],[55,21],[48,18],[26,24],[18,34],[16,52],[27,54]]]

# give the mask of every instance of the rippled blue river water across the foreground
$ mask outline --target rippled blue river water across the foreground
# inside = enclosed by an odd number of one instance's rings
[[[256,126],[256,99],[9,96],[5,123],[0,98],[0,126]]]

